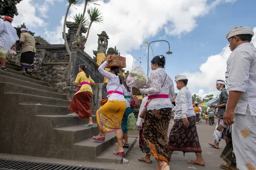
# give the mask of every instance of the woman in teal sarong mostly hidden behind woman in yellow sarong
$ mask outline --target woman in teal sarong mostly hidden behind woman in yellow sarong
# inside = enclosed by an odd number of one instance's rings
[[[122,131],[124,133],[124,139],[125,142],[123,142],[123,147],[124,148],[129,148],[129,143],[128,143],[128,116],[134,111],[134,108],[131,108],[131,88],[129,88],[126,85],[126,81],[124,80],[124,83],[122,84],[122,89],[123,89],[123,95],[125,97],[125,102],[126,102],[126,108],[125,108],[125,113],[122,118]]]

